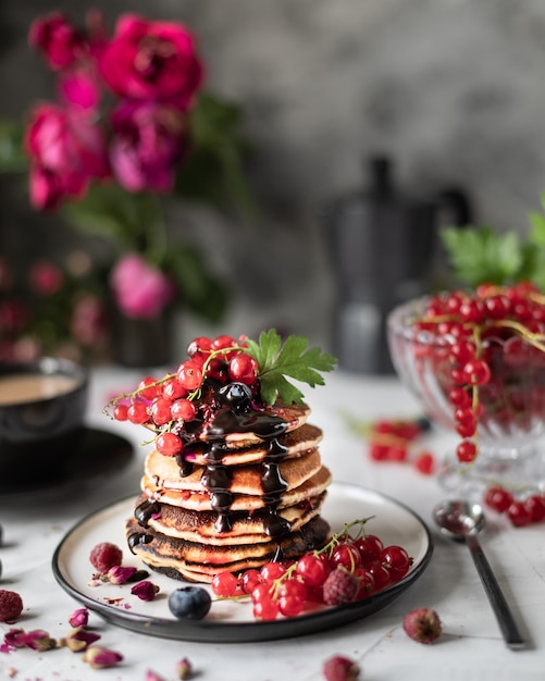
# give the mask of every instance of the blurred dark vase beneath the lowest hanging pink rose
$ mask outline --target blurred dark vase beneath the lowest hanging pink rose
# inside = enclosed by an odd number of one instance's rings
[[[133,319],[120,310],[112,315],[112,358],[129,368],[170,364],[173,356],[173,311],[153,319]]]

